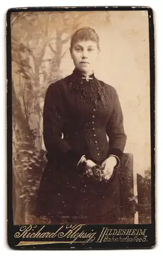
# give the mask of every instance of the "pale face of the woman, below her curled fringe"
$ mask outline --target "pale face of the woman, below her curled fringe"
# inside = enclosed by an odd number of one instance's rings
[[[97,42],[91,40],[78,41],[71,49],[71,57],[76,69],[86,75],[94,71],[98,55],[99,49],[97,47]]]

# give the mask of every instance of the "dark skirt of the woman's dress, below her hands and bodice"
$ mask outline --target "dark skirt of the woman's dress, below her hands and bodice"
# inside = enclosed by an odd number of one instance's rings
[[[54,223],[115,224],[122,216],[119,168],[108,181],[95,181],[77,169],[45,166],[37,197],[37,216]]]

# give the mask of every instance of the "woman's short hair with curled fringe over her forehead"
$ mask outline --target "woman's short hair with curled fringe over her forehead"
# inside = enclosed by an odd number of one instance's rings
[[[78,29],[71,38],[71,49],[73,48],[73,45],[76,44],[78,41],[94,41],[97,42],[97,47],[100,48],[99,46],[99,36],[96,33],[96,31],[92,28],[89,27],[84,27]]]

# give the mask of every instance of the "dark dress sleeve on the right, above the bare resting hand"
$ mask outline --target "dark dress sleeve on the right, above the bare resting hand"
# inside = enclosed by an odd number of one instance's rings
[[[115,155],[120,160],[126,144],[126,134],[123,125],[123,114],[117,91],[113,92],[113,112],[107,123],[106,133],[109,137],[109,155]]]

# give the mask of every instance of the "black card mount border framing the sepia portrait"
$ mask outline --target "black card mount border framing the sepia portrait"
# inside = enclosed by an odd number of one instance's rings
[[[149,17],[149,51],[150,51],[150,124],[151,124],[151,224],[92,224],[83,225],[85,232],[92,229],[102,232],[102,228],[113,229],[134,229],[145,230],[147,239],[145,242],[109,242],[104,241],[98,243],[71,243],[70,240],[52,239],[43,242],[43,239],[23,239],[17,238],[20,228],[25,225],[13,224],[12,210],[12,67],[11,67],[11,14],[14,12],[29,11],[148,11]],[[135,249],[135,248],[151,248],[155,245],[155,47],[154,47],[154,18],[153,10],[150,7],[28,7],[28,8],[12,8],[6,14],[6,74],[7,74],[7,241],[13,249]],[[30,225],[26,225],[29,227]],[[41,228],[44,232],[54,232],[58,230],[60,225],[35,225],[38,230]],[[66,232],[66,225],[63,231]],[[137,231],[138,232],[138,231]],[[45,239],[44,239],[45,240]]]

